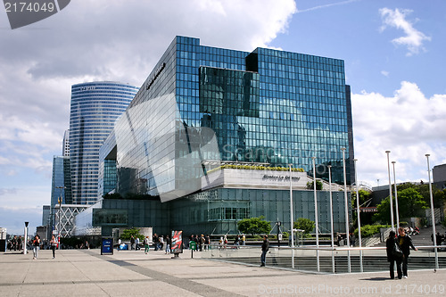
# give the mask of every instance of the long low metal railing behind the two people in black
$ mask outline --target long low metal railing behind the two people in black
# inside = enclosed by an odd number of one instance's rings
[[[383,247],[338,247],[302,246],[270,247],[267,266],[276,268],[320,273],[347,273],[388,271],[386,248]],[[417,246],[411,250],[409,270],[446,268],[446,245]],[[440,253],[436,253],[435,250]],[[293,252],[292,252],[293,251]],[[207,251],[200,253],[203,259],[224,260],[247,265],[260,265],[260,246],[236,246],[211,244]],[[293,258],[292,258],[293,255]]]

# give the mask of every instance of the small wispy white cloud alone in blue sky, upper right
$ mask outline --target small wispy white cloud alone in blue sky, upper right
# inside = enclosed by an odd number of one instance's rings
[[[412,12],[410,10],[395,10],[389,8],[382,8],[379,10],[381,17],[383,18],[383,26],[381,30],[387,27],[393,27],[401,29],[405,36],[392,39],[394,45],[405,45],[408,47],[408,56],[412,54],[418,54],[420,49],[424,49],[423,42],[425,40],[430,41],[431,37],[425,36],[424,33],[418,31],[413,27],[413,24],[406,20],[406,17]]]

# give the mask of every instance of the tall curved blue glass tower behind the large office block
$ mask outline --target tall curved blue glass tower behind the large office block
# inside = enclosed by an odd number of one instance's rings
[[[70,166],[75,204],[97,201],[99,148],[138,87],[111,81],[71,87]]]

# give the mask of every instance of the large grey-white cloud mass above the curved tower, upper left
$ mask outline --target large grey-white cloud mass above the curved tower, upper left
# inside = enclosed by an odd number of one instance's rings
[[[176,35],[252,51],[284,32],[293,0],[71,2],[52,18],[0,36],[0,165],[51,170],[70,123],[70,87],[140,86]],[[40,28],[40,29],[39,29]]]

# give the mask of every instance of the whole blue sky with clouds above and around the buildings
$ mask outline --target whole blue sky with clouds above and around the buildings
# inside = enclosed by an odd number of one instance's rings
[[[177,35],[251,52],[270,47],[342,59],[351,86],[358,179],[427,181],[446,162],[446,2],[431,0],[82,0],[11,29],[0,12],[0,227],[42,223],[54,155],[69,128],[70,87],[140,87]]]

